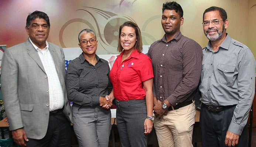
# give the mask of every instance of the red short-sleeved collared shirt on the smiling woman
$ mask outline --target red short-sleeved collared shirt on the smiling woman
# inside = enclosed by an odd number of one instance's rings
[[[117,55],[109,73],[114,96],[121,101],[143,99],[146,96],[143,81],[154,78],[151,59],[135,49],[121,63],[123,53]]]

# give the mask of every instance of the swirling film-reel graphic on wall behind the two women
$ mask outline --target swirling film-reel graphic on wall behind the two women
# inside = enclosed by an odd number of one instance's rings
[[[122,4],[124,6],[131,5],[131,7],[139,0],[120,0],[119,9]],[[74,18],[67,21],[61,28],[59,32],[59,42],[63,48],[66,47],[63,35],[65,29],[74,22],[80,22],[87,25],[90,29],[92,29],[96,35],[98,40],[98,48],[99,46],[103,48],[107,52],[107,54],[119,54],[117,52],[117,42],[119,36],[119,27],[126,21],[132,21],[136,23],[136,20],[127,15],[119,15],[116,12],[105,11],[102,9],[94,8],[94,7],[82,7],[81,9],[77,9],[81,13],[85,13],[85,18]],[[89,18],[90,17],[90,18]],[[88,19],[93,19],[93,21],[87,21]],[[141,36],[143,40],[143,45],[150,45],[156,39],[153,37],[153,34],[146,32],[146,27],[154,20],[161,19],[161,15],[155,15],[147,19],[144,24],[137,24],[141,30]],[[102,26],[103,24],[103,26]]]

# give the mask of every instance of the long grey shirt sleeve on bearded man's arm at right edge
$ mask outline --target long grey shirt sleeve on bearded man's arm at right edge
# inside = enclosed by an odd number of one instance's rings
[[[242,52],[242,53],[241,53]],[[249,49],[242,50],[238,58],[237,85],[239,101],[228,130],[241,135],[245,127],[255,94],[255,58]]]

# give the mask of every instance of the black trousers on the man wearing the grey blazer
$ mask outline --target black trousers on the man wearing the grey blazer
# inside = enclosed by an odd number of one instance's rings
[[[27,147],[71,147],[71,125],[63,110],[51,113],[44,138],[28,139]]]

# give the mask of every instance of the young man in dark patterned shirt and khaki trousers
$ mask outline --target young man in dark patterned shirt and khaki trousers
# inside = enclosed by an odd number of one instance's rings
[[[165,35],[148,52],[154,71],[154,128],[160,147],[192,147],[193,98],[201,74],[202,48],[181,35],[183,22],[181,6],[174,1],[164,3],[161,23]]]

